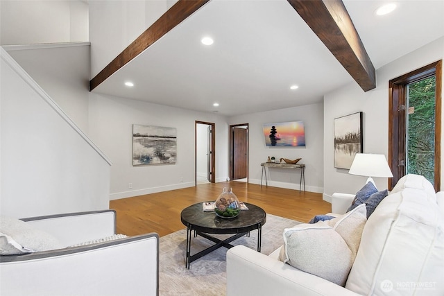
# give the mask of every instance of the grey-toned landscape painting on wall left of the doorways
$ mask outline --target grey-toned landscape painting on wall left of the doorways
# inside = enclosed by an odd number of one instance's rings
[[[176,164],[176,128],[133,124],[133,166]]]

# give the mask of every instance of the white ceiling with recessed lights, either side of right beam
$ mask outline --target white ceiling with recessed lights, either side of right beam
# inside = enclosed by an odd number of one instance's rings
[[[444,0],[397,1],[383,17],[387,1],[343,2],[375,69],[444,35]],[[234,116],[319,103],[350,82],[287,0],[211,0],[93,92]]]

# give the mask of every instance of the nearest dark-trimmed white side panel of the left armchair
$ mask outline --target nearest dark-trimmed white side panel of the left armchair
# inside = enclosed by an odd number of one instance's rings
[[[0,295],[158,295],[159,236],[0,257]]]

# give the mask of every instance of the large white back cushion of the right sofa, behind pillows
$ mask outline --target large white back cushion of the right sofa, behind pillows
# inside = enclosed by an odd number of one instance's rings
[[[345,288],[361,295],[444,295],[444,218],[424,177],[402,177],[368,218]]]

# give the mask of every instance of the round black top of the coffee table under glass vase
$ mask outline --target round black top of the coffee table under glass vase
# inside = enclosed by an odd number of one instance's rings
[[[224,219],[216,216],[214,211],[203,211],[202,202],[182,210],[180,220],[192,230],[207,234],[237,234],[249,232],[262,227],[266,222],[265,211],[245,202],[248,210],[240,211],[239,216]]]

